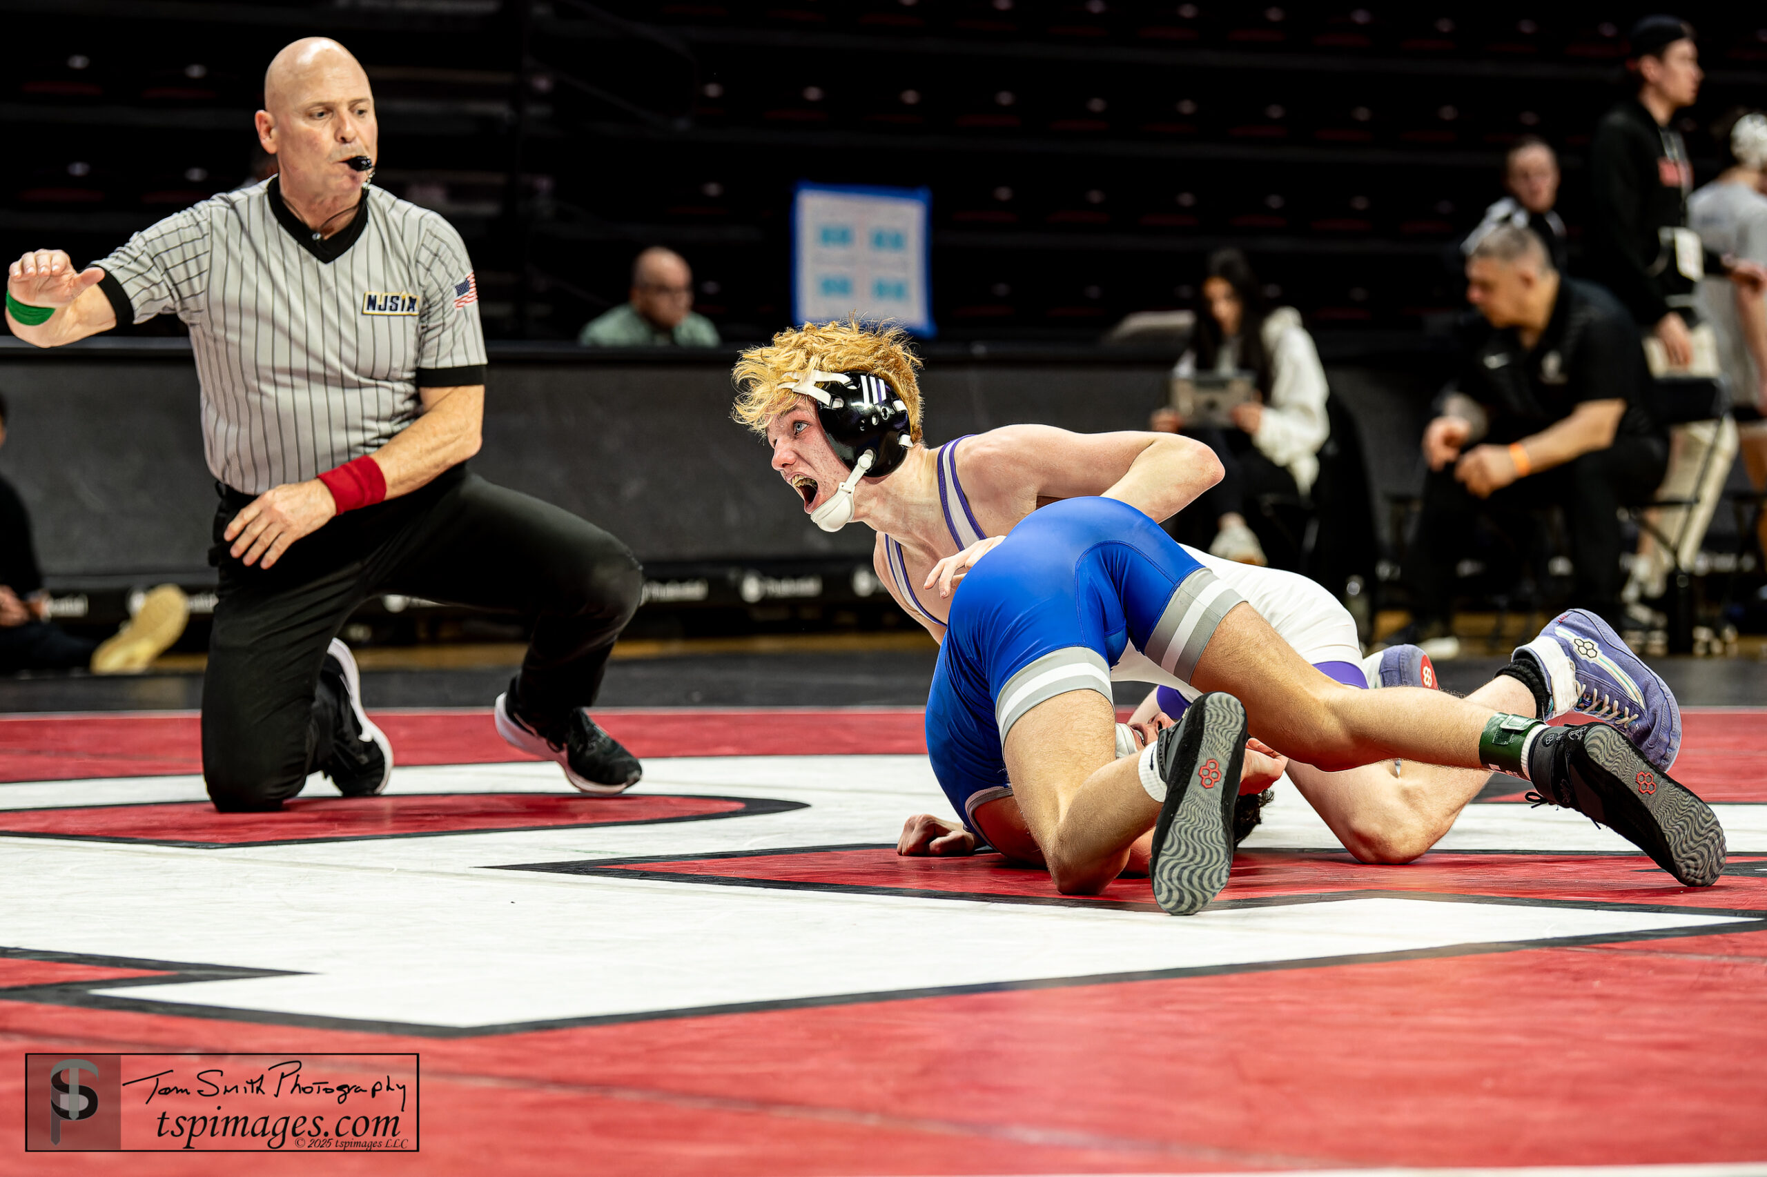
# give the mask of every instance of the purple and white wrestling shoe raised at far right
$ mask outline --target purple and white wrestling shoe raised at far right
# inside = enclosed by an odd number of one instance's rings
[[[1657,772],[1680,755],[1680,705],[1657,672],[1589,610],[1551,619],[1514,657],[1530,657],[1551,689],[1551,716],[1567,712],[1610,723]]]

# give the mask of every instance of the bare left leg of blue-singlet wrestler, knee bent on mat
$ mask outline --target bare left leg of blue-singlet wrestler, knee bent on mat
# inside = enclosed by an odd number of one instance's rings
[[[1136,758],[1117,760],[1117,710],[1097,691],[1067,691],[1027,710],[1005,737],[1005,771],[1055,889],[1096,894],[1122,873],[1159,820]],[[1145,869],[1145,866],[1143,866]]]

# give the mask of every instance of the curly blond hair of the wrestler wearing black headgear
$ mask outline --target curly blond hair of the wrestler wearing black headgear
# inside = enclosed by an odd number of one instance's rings
[[[730,415],[749,429],[767,435],[767,422],[790,410],[797,391],[788,380],[816,368],[820,371],[862,371],[884,376],[901,403],[908,406],[908,438],[921,440],[921,382],[915,369],[921,357],[908,346],[908,332],[887,323],[846,322],[804,323],[781,330],[758,348],[749,348],[730,369],[737,403]]]

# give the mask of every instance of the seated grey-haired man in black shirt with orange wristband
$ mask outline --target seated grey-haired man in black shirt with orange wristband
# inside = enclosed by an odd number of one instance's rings
[[[1472,251],[1467,299],[1483,322],[1468,329],[1461,373],[1424,429],[1419,633],[1445,626],[1449,574],[1479,516],[1525,555],[1530,509],[1551,504],[1566,513],[1573,604],[1615,620],[1617,509],[1649,502],[1668,459],[1643,401],[1650,373],[1633,316],[1601,286],[1560,276],[1541,239],[1514,226]]]

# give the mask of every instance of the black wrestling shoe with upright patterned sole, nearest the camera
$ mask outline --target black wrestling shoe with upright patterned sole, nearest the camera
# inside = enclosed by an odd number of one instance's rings
[[[1168,915],[1194,915],[1226,885],[1244,760],[1246,709],[1232,695],[1200,696],[1159,733],[1154,767],[1166,783],[1166,804],[1147,873]]]

